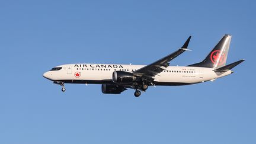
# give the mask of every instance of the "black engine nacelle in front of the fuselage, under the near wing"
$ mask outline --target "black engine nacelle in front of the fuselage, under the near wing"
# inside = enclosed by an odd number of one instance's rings
[[[116,84],[132,84],[136,81],[136,77],[130,72],[114,71],[112,81]]]

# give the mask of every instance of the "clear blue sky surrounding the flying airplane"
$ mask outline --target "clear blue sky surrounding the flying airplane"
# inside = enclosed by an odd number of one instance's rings
[[[0,143],[256,143],[255,1],[0,1]],[[199,62],[232,34],[214,82],[104,95],[58,85],[65,63],[147,65],[182,46],[171,65]]]

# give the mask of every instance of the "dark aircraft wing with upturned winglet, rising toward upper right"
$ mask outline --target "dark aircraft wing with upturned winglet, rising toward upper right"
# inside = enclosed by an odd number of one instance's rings
[[[188,43],[190,42],[191,36],[188,37],[187,41],[183,44],[183,46],[178,49],[176,52],[169,54],[168,56],[163,57],[162,59],[157,60],[156,62],[151,63],[150,65],[144,66],[143,68],[138,69],[137,71],[133,72],[136,76],[143,76],[148,81],[153,80],[153,76],[158,75],[169,66],[169,62],[174,59],[175,57],[181,55],[181,53],[188,50]]]

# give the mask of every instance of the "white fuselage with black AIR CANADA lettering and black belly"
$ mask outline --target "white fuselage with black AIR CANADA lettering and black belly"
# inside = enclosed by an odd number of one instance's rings
[[[68,64],[60,65],[58,71],[48,71],[43,76],[51,81],[61,81],[73,84],[110,84],[114,71],[133,72],[145,65],[115,65],[115,64]],[[227,71],[217,75],[213,68],[190,66],[168,66],[158,73],[153,81],[155,85],[187,85],[215,80],[232,73]]]

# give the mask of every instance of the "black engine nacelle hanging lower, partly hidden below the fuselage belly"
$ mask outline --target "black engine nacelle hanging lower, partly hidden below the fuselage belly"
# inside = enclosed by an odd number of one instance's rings
[[[126,88],[119,87],[118,85],[101,85],[101,91],[103,92],[103,94],[121,94],[121,92],[123,92],[124,90],[126,90]]]

